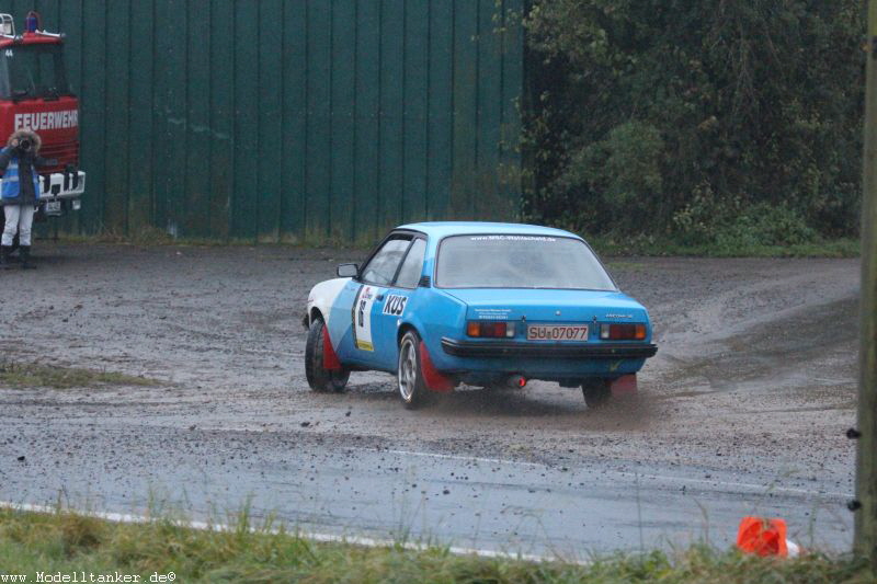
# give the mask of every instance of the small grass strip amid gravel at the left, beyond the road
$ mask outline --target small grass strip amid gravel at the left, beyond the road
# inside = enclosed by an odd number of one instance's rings
[[[0,363],[0,386],[16,389],[47,387],[53,389],[93,388],[101,386],[157,386],[148,377],[115,371],[38,365],[35,363]]]

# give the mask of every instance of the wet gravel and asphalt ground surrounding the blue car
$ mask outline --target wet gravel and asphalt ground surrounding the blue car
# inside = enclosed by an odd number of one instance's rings
[[[654,322],[637,396],[590,411],[533,382],[409,412],[386,375],[305,381],[307,293],[363,252],[36,251],[0,273],[3,358],[159,383],[0,388],[0,501],[204,516],[249,499],[314,531],[577,557],[726,545],[751,512],[851,540],[857,260],[610,259]]]

